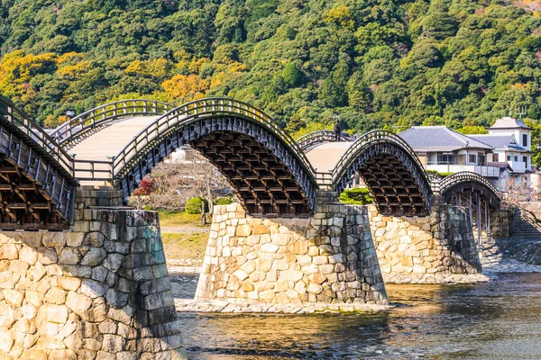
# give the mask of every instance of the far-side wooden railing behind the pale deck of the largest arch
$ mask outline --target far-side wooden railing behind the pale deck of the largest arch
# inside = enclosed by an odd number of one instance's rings
[[[173,106],[156,100],[130,99],[96,107],[66,121],[50,132],[50,136],[60,144],[74,139],[84,131],[91,130],[108,121],[127,116],[157,116],[168,112]]]

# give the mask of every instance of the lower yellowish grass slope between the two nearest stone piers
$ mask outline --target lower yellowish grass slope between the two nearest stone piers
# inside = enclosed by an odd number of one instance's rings
[[[208,232],[161,234],[163,250],[168,259],[202,259],[205,257]]]

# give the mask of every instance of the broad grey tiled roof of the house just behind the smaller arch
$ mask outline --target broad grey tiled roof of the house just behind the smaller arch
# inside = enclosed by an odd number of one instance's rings
[[[492,149],[479,140],[472,139],[445,126],[413,126],[398,133],[399,137],[408,142],[414,149],[444,148],[455,150],[460,148]]]

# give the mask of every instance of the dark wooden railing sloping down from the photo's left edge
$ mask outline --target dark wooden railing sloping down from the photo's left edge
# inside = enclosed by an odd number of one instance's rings
[[[0,96],[0,107],[5,119],[15,127],[22,130],[30,139],[39,145],[46,153],[53,157],[60,166],[71,176],[74,176],[73,157],[60,147],[60,144],[53,139],[40,125],[30,119],[28,115],[17,110],[13,103]]]

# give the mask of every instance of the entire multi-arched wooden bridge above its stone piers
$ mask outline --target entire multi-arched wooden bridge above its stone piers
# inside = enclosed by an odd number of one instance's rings
[[[340,142],[330,131],[316,131],[295,141],[264,112],[232,99],[178,107],[143,99],[107,103],[49,134],[13,104],[2,99],[0,105],[4,228],[67,224],[77,184],[114,184],[127,198],[182,145],[217,166],[254,216],[308,216],[317,190],[341,192],[356,174],[387,215],[424,216],[438,191],[413,150],[388,131],[344,135]],[[464,188],[459,183],[484,186],[482,194],[497,205],[490,183],[463,179],[440,186],[450,193]]]

